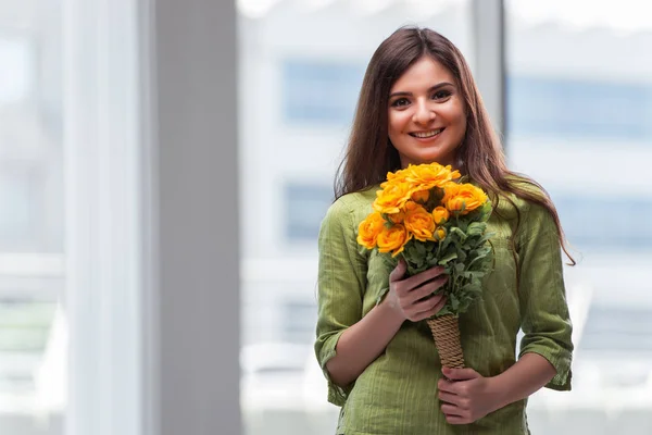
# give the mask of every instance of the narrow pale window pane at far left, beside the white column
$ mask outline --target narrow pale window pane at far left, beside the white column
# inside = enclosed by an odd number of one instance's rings
[[[0,14],[0,433],[63,433],[61,4]]]

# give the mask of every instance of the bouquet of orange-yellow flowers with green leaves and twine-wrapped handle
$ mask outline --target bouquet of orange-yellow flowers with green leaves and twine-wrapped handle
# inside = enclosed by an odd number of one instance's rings
[[[444,307],[427,320],[441,364],[463,368],[459,315],[481,295],[490,269],[487,220],[491,202],[482,189],[460,183],[460,173],[438,163],[409,165],[387,174],[372,212],[358,228],[358,243],[398,262],[412,276],[435,265],[449,275],[439,291]]]

